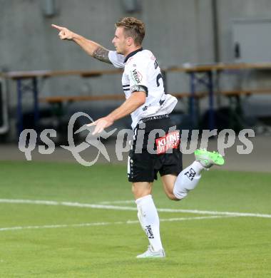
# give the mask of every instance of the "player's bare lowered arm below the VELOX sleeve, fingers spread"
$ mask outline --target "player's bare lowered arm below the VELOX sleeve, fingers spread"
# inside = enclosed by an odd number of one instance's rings
[[[126,99],[126,101],[120,107],[116,108],[116,110],[113,110],[113,112],[111,112],[109,115],[88,124],[88,126],[96,125],[92,134],[94,135],[96,133],[101,133],[104,128],[108,128],[108,126],[113,125],[115,120],[131,114],[134,110],[145,103],[145,98],[145,92],[132,93],[130,98]]]

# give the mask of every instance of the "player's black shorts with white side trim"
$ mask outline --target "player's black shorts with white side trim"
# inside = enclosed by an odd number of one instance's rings
[[[165,135],[172,130],[174,125],[171,123],[170,117],[166,115],[164,118],[163,116],[158,119],[150,117],[144,120],[145,132],[143,133],[143,129],[140,129],[140,125],[137,125],[134,130],[135,138],[128,156],[129,182],[153,182],[153,180],[157,180],[158,172],[160,176],[178,175],[183,170],[180,145],[178,148],[170,148],[165,153],[158,154],[157,140],[160,140],[161,136],[156,134],[153,140],[148,140],[151,130],[163,130]],[[149,150],[153,150],[153,152]]]

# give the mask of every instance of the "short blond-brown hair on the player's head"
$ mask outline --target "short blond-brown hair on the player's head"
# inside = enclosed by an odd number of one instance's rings
[[[123,17],[115,24],[117,27],[123,27],[126,36],[131,36],[136,46],[141,45],[145,36],[145,24],[135,17]]]

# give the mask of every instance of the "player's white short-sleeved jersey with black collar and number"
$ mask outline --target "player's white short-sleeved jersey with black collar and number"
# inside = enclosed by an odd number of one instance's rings
[[[153,53],[140,48],[127,57],[109,51],[108,57],[113,66],[124,68],[122,83],[126,99],[133,92],[140,91],[140,87],[147,93],[145,103],[131,113],[133,129],[143,118],[172,112],[178,101],[174,96],[165,94],[162,74]]]

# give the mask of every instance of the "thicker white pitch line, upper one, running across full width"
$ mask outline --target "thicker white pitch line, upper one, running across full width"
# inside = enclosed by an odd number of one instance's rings
[[[117,205],[98,205],[98,204],[83,204],[80,202],[57,202],[48,200],[13,200],[13,199],[0,199],[0,203],[11,203],[11,204],[34,204],[34,205],[63,205],[68,207],[90,207],[94,209],[104,210],[133,210],[137,211],[136,207],[123,207]],[[178,210],[169,208],[158,208],[158,212],[183,212],[193,213],[196,215],[227,215],[227,216],[240,216],[240,217],[262,217],[271,218],[271,215],[264,215],[260,213],[249,213],[249,212],[217,212],[210,210]]]

